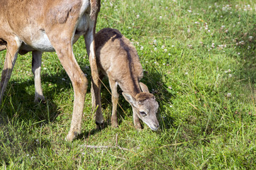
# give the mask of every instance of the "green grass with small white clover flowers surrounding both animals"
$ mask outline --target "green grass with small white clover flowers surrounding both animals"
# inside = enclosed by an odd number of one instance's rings
[[[116,28],[134,43],[142,81],[160,103],[160,130],[135,130],[124,98],[111,128],[106,88],[107,127],[95,130],[89,87],[82,135],[65,142],[73,106],[65,70],[55,52],[43,54],[46,103],[35,104],[32,57],[20,55],[0,105],[1,169],[255,169],[255,26],[252,0],[102,0],[96,30]],[[74,54],[90,77],[82,39]]]

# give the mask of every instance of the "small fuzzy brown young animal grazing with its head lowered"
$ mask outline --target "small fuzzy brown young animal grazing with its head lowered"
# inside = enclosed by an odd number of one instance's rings
[[[112,127],[118,126],[116,108],[118,103],[117,86],[121,87],[123,96],[133,108],[133,123],[135,128],[141,129],[140,120],[143,120],[152,130],[159,128],[156,113],[158,103],[155,96],[150,94],[148,87],[139,82],[143,77],[143,68],[132,43],[125,38],[118,30],[104,28],[96,33],[96,62],[99,68],[99,79],[104,75],[112,92]],[[103,119],[101,113],[101,84],[99,89],[92,89],[92,104],[96,109],[96,118]],[[101,127],[98,127],[101,128]]]

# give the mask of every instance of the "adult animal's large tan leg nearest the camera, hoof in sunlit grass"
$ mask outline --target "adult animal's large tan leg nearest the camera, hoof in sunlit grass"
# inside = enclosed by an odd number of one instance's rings
[[[50,33],[57,34],[50,34],[48,37],[51,40],[52,46],[55,48],[60,63],[67,72],[69,79],[72,81],[74,89],[74,108],[70,129],[66,137],[66,140],[71,142],[74,140],[74,137],[81,133],[82,113],[84,110],[84,99],[87,92],[88,81],[74,57],[72,51],[72,34],[65,33],[65,28],[62,30],[64,30],[64,33],[60,33],[60,30],[52,30]],[[66,30],[68,30],[68,28],[66,28]]]

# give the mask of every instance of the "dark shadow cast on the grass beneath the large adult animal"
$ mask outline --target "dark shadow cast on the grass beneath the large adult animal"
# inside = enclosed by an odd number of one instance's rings
[[[89,84],[87,93],[89,93],[91,90],[90,70],[86,68],[84,63],[79,64],[83,72],[88,74]],[[56,118],[62,115],[62,108],[54,102],[54,98],[60,95],[60,93],[65,93],[65,91],[73,93],[71,81],[67,73],[64,69],[61,69],[55,74],[41,74],[41,79],[45,101],[40,101],[39,103],[34,102],[35,85],[33,77],[9,81],[3,101],[0,104],[0,128],[10,123],[12,119],[15,119],[16,122],[24,121],[26,124],[32,123],[35,126],[44,126],[48,123],[54,123]],[[70,107],[73,107],[73,103],[69,103]],[[69,118],[61,116],[60,120],[69,119],[71,121],[71,114],[72,111]],[[88,132],[82,130],[82,134],[77,139],[94,135],[96,132],[99,132],[99,130],[93,129]],[[47,141],[43,143],[49,145]]]

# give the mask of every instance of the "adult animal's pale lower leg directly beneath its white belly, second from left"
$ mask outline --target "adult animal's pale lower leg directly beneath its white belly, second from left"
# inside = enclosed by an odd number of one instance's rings
[[[41,86],[41,64],[42,64],[42,52],[40,51],[33,51],[32,52],[33,59],[32,59],[32,72],[34,74],[35,80],[35,102],[38,101],[45,101],[45,97],[43,96],[43,90]]]

